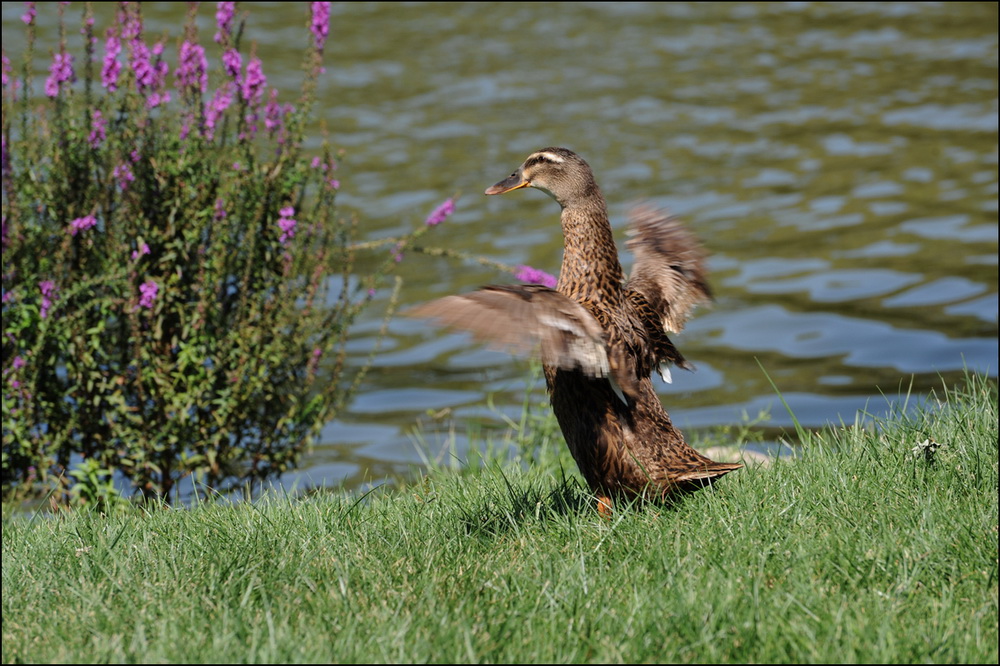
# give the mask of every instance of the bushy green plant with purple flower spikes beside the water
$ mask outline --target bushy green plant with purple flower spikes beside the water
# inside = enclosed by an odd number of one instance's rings
[[[233,2],[208,48],[194,3],[176,51],[138,3],[103,33],[88,3],[82,55],[60,3],[39,94],[27,3],[20,75],[3,55],[5,497],[86,496],[73,479],[105,471],[147,497],[225,492],[294,466],[358,386],[347,332],[395,262],[354,274],[337,163],[303,147],[329,4],[282,102]]]

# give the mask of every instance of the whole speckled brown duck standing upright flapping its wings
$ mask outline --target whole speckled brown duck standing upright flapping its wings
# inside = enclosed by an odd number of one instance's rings
[[[590,166],[565,148],[545,148],[486,190],[534,187],[562,206],[565,237],[555,289],[488,286],[414,311],[504,347],[540,350],[552,407],[580,472],[605,513],[613,497],[663,498],[694,490],[742,465],[717,463],[685,441],[653,390],[654,368],[691,369],[667,337],[711,298],[705,253],[678,220],[633,214],[626,281],[607,204]]]

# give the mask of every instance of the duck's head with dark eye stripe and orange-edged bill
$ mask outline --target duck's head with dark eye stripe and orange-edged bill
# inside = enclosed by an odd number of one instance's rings
[[[566,148],[533,152],[517,171],[488,188],[486,194],[504,194],[522,187],[542,190],[563,207],[598,192],[590,165]]]

